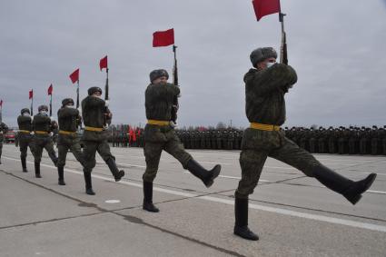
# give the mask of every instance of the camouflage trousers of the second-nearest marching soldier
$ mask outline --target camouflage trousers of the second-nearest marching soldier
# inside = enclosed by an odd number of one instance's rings
[[[160,131],[155,126],[146,125],[144,143],[144,158],[146,161],[146,170],[143,175],[145,182],[152,183],[158,172],[161,153],[163,150],[171,154],[177,159],[186,169],[187,163],[192,159],[191,154],[183,149],[183,144],[180,142],[174,130]]]

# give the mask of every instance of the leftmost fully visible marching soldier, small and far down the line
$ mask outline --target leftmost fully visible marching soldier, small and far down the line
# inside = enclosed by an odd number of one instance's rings
[[[20,115],[17,117],[17,124],[19,125],[19,132],[17,133],[17,140],[20,147],[20,161],[22,162],[23,173],[28,173],[26,165],[27,150],[33,153],[32,145],[32,118],[28,108],[23,108]]]

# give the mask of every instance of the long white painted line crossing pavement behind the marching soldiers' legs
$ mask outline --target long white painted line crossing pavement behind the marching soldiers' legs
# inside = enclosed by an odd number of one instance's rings
[[[8,160],[17,161],[17,162],[20,161],[18,159],[10,158],[10,157],[4,157],[4,158],[8,159]],[[33,163],[33,162],[29,162],[28,161],[28,163]],[[41,163],[41,166],[45,166],[47,168],[56,169],[56,167],[54,167],[52,165],[45,164],[45,163]],[[71,169],[64,169],[64,170],[66,172],[68,172],[68,173],[75,173],[75,174],[83,175],[83,173],[75,171],[75,170],[71,170]],[[112,182],[114,182],[114,179],[108,178],[108,177],[105,177],[105,176],[94,175],[94,174],[92,176],[94,178],[98,178],[98,179],[102,179],[102,180],[105,180],[105,181],[112,181]],[[142,184],[139,184],[139,183],[130,183],[130,182],[125,182],[125,181],[120,181],[118,183],[124,183],[124,184],[127,184],[127,185],[132,185],[132,186],[135,186],[135,187],[142,188]],[[230,204],[230,205],[234,204],[233,200],[227,200],[227,199],[213,197],[213,196],[208,196],[208,195],[199,196],[198,194],[183,193],[183,192],[178,192],[178,191],[174,191],[174,190],[164,189],[164,188],[160,188],[160,187],[154,187],[153,190],[157,191],[157,192],[170,193],[170,194],[173,194],[173,195],[179,195],[179,196],[183,196],[183,197],[189,197],[189,198],[193,198],[194,197],[194,198],[197,198],[197,199],[203,199],[203,200],[210,201],[210,202],[215,202],[215,203],[225,203],[225,204]],[[249,204],[249,207],[251,209],[254,209],[254,210],[261,210],[261,211],[270,212],[270,213],[279,213],[279,214],[283,214],[283,215],[289,215],[289,216],[292,216],[292,217],[299,217],[299,218],[304,218],[304,219],[318,221],[318,222],[329,222],[329,223],[341,224],[341,225],[346,225],[346,226],[350,226],[350,227],[354,227],[354,228],[366,229],[366,230],[371,230],[371,231],[386,232],[386,226],[377,225],[377,224],[371,224],[371,223],[366,223],[366,222],[354,222],[354,221],[351,221],[351,220],[343,220],[343,219],[333,218],[333,217],[329,217],[329,216],[322,216],[322,215],[319,215],[319,214],[301,213],[301,212],[291,211],[291,210],[287,210],[287,209],[263,206],[263,205],[260,205],[260,204]]]

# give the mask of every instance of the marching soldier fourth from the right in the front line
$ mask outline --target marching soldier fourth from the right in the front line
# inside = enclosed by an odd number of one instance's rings
[[[82,118],[79,115],[79,111],[74,107],[74,100],[65,98],[62,101],[62,108],[57,111],[57,119],[59,122],[57,173],[58,183],[60,185],[65,185],[64,165],[68,150],[71,150],[75,159],[84,165],[81,143],[76,133],[78,126],[82,124]]]

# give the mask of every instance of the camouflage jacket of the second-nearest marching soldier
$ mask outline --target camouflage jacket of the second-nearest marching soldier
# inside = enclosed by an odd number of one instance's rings
[[[144,94],[146,118],[148,120],[170,121],[173,99],[180,94],[174,84],[149,84]]]

